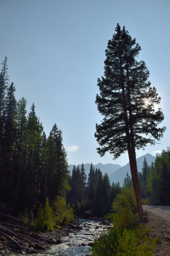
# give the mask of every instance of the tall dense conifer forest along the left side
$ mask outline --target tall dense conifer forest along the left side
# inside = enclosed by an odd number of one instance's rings
[[[16,213],[36,211],[55,200],[65,202],[68,162],[62,131],[54,124],[47,137],[35,113],[27,116],[25,98],[15,98],[8,84],[7,57],[0,73],[0,203]]]

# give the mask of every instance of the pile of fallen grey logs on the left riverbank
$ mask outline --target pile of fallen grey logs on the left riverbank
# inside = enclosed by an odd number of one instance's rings
[[[0,250],[12,247],[25,253],[37,253],[37,249],[45,249],[47,244],[59,244],[60,239],[50,239],[43,235],[32,232],[30,228],[24,227],[24,221],[14,218],[10,215],[0,212],[1,217],[5,220],[0,221],[0,236],[6,237],[9,241],[0,241]]]

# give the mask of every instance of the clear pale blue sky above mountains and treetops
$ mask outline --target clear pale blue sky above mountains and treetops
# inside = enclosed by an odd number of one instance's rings
[[[35,103],[47,136],[54,123],[63,131],[69,164],[129,162],[127,153],[101,158],[94,137],[102,120],[95,104],[97,78],[117,23],[142,48],[138,60],[146,62],[161,96],[161,126],[167,127],[161,144],[138,150],[137,157],[170,145],[169,13],[170,0],[0,0],[0,61],[7,55],[15,97],[27,99],[28,112]]]

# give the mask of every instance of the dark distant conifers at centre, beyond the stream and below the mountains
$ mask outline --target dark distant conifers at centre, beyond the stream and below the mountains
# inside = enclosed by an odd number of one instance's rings
[[[111,210],[113,199],[121,192],[120,183],[110,184],[107,173],[90,166],[88,178],[84,165],[73,167],[69,176],[69,185],[72,188],[67,192],[67,201],[74,205],[77,214],[83,214],[92,208],[95,216],[102,216]]]

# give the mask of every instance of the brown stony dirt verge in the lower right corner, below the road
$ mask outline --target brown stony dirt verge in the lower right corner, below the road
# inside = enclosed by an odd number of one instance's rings
[[[153,238],[161,237],[162,243],[157,244],[156,248],[152,252],[153,255],[158,256],[170,256],[170,222],[164,217],[161,217],[155,213],[148,212],[149,222],[147,226],[153,227],[154,231],[149,235]]]

